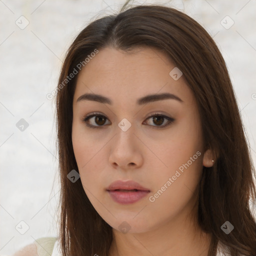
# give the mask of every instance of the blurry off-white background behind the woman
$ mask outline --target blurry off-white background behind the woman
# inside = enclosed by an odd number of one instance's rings
[[[64,54],[89,22],[125,0],[0,0],[0,255],[56,236],[59,198],[54,101]],[[134,4],[156,1],[134,1]],[[230,73],[256,163],[255,0],[157,1],[199,22]]]

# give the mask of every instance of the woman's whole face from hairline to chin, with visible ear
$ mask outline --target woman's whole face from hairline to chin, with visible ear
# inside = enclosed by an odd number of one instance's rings
[[[203,165],[211,166],[195,98],[174,67],[153,48],[109,47],[78,74],[74,155],[86,195],[116,230],[138,233],[181,222],[196,202]],[[109,187],[117,180],[140,187]]]

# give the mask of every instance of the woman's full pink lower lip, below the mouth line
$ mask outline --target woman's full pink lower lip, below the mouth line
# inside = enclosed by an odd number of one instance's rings
[[[107,191],[112,199],[115,202],[121,203],[121,204],[129,204],[136,202],[146,196],[149,191],[143,191],[143,190],[138,190],[138,191],[120,191],[120,190],[111,190]]]

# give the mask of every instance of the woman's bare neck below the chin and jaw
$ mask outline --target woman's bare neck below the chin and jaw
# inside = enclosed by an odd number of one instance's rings
[[[175,219],[144,233],[122,233],[113,229],[109,256],[207,256],[210,235],[191,219]]]

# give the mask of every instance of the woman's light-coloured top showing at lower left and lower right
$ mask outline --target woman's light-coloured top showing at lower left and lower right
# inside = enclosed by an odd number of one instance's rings
[[[38,256],[61,256],[60,244],[57,237],[41,237],[34,241]],[[216,256],[230,256],[229,250],[222,243],[218,243]]]

